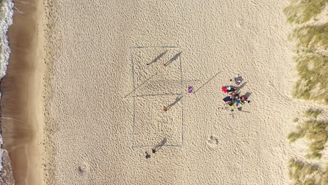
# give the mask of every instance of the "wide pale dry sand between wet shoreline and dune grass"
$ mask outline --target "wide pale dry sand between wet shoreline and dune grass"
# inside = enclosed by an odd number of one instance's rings
[[[288,184],[287,122],[304,106],[285,5],[49,1],[48,184]],[[232,115],[221,85],[236,74],[252,102]]]

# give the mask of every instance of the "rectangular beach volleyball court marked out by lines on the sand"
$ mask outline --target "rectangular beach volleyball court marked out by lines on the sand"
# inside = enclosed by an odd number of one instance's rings
[[[177,47],[131,48],[132,148],[183,145],[182,52]],[[163,111],[168,107],[168,111]]]

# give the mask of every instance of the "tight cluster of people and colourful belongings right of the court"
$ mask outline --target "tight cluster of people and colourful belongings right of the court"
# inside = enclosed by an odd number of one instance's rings
[[[232,79],[230,81],[233,81]],[[242,82],[242,77],[239,76],[239,74],[237,76],[235,76],[235,84],[236,85],[240,85],[240,83]],[[238,110],[241,111],[241,107],[243,104],[245,104],[246,102],[250,103],[250,100],[247,100],[247,96],[246,95],[239,95],[236,91],[237,88],[233,85],[225,85],[221,88],[221,90],[228,94],[226,97],[224,97],[224,99],[222,99],[226,104],[228,104],[228,106],[231,108],[231,111],[233,111],[235,108],[237,108]]]

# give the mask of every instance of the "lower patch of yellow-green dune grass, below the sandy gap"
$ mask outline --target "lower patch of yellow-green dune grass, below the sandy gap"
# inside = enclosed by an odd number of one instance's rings
[[[308,109],[301,118],[294,118],[297,123],[296,131],[288,135],[291,143],[297,139],[308,140],[308,154],[306,158],[312,159],[313,163],[291,158],[288,162],[289,177],[296,184],[328,184],[328,164],[325,169],[318,165],[322,158],[324,145],[328,140],[328,121],[322,121],[317,117],[322,114],[320,109]]]

